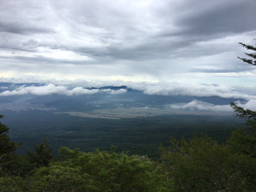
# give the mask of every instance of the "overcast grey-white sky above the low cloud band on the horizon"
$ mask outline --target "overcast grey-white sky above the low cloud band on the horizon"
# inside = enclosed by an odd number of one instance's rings
[[[1,0],[0,77],[255,86],[255,0]]]

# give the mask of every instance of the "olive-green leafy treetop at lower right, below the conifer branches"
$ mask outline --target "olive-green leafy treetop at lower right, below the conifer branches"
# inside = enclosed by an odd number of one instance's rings
[[[209,137],[186,141],[170,139],[162,148],[162,162],[177,191],[250,191],[256,187],[250,178],[256,171],[256,159],[234,153],[229,145],[219,145]]]

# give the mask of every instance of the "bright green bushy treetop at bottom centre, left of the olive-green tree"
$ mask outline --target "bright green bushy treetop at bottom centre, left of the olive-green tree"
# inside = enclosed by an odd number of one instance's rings
[[[39,168],[34,191],[170,191],[170,182],[149,159],[114,151],[60,149],[64,162]]]

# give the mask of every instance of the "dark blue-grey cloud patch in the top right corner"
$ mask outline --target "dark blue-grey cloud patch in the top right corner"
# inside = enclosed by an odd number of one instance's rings
[[[193,14],[178,19],[176,23],[183,29],[179,34],[206,37],[256,30],[255,1],[224,3],[212,10],[194,10]]]

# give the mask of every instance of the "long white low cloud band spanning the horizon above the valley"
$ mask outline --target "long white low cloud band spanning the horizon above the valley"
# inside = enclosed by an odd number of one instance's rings
[[[2,82],[16,82],[21,83],[22,80],[18,79],[6,79],[0,78]],[[32,78],[29,82],[33,82]],[[239,90],[239,87],[222,86],[222,85],[201,85],[197,83],[183,83],[183,82],[122,82],[122,81],[57,81],[51,80],[47,86],[21,86],[16,90],[6,90],[0,93],[0,96],[18,95],[18,94],[95,94],[95,93],[108,93],[108,94],[124,94],[126,89],[120,90],[88,90],[82,87],[102,87],[102,86],[127,86],[132,90],[140,90],[144,94],[155,94],[155,95],[182,95],[182,96],[195,96],[195,97],[212,97],[218,96],[221,98],[234,98],[234,100],[256,100],[256,95],[252,94],[252,89],[246,91],[246,89]],[[59,86],[55,86],[55,85]],[[69,87],[75,87],[69,89]],[[246,93],[248,92],[248,93]]]

